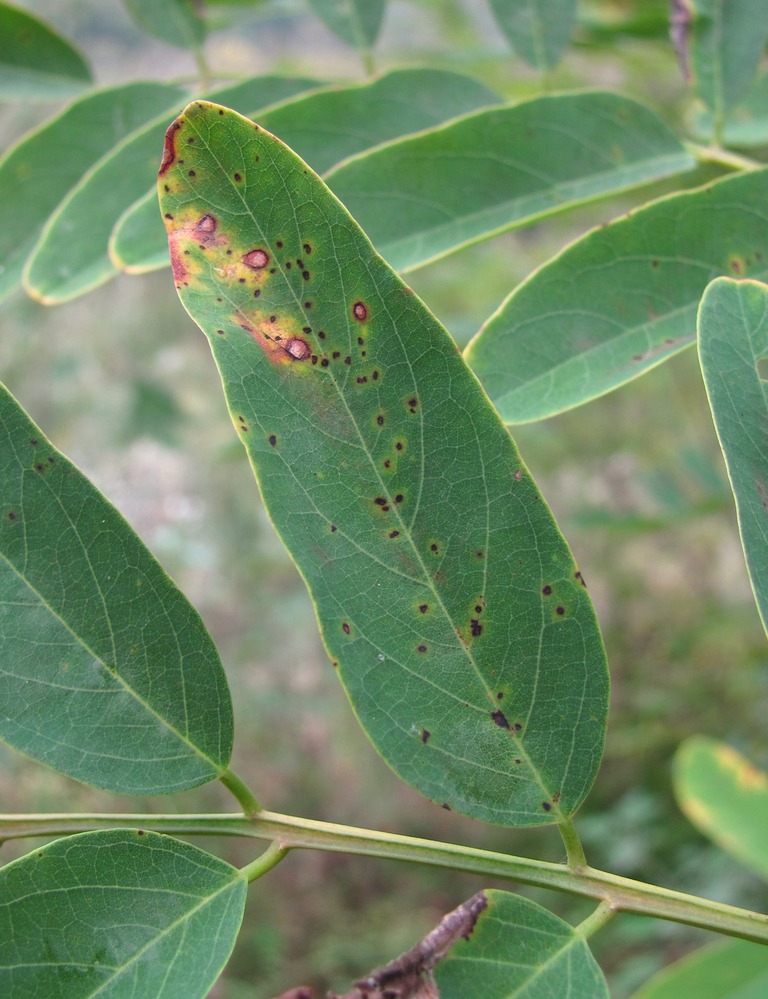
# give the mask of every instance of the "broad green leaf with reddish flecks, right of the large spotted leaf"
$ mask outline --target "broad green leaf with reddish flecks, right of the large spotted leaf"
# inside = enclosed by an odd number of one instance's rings
[[[465,357],[507,423],[579,406],[696,335],[718,274],[768,274],[768,171],[661,198],[592,230],[501,304]]]

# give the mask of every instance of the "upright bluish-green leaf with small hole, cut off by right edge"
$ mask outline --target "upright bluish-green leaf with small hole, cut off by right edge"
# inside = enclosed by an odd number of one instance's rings
[[[768,287],[718,278],[699,307],[699,360],[736,500],[741,544],[768,630]]]

